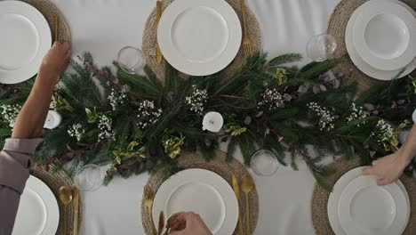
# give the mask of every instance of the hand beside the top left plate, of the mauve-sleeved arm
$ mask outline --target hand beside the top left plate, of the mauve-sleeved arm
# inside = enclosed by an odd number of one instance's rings
[[[46,77],[56,77],[54,84],[58,82],[58,77],[69,65],[71,59],[71,45],[69,43],[55,42],[48,53],[44,55],[44,60],[39,69],[39,73],[47,74]]]

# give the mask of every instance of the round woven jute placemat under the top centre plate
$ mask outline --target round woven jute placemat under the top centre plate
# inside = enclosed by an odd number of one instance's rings
[[[173,0],[163,1],[162,11],[172,3]],[[241,22],[241,0],[227,0],[234,10],[236,11],[238,18]],[[155,4],[156,5],[156,4]],[[249,8],[245,8],[247,16],[247,28],[248,35],[252,41],[252,52],[260,52],[261,50],[261,31],[259,22],[256,20],[256,17]],[[242,27],[243,28],[243,27]],[[148,21],[146,22],[145,28],[143,30],[143,40],[142,40],[142,51],[146,58],[146,64],[153,72],[156,73],[156,76],[164,83],[164,62],[158,64],[156,60],[156,43],[157,43],[157,26],[156,26],[156,8],[150,13]],[[243,52],[243,47],[240,47],[236,58],[232,61],[228,67],[225,69],[225,75],[230,75],[244,65],[246,56]],[[183,76],[186,77],[186,76]]]

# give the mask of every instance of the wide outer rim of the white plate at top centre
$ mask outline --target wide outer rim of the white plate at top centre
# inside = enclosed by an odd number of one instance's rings
[[[228,44],[218,58],[196,63],[187,60],[172,45],[171,28],[181,12],[195,6],[205,6],[219,12],[228,26]],[[241,45],[242,28],[234,9],[223,0],[176,0],[165,10],[157,28],[157,42],[164,58],[173,68],[191,76],[207,76],[225,69],[236,58]]]

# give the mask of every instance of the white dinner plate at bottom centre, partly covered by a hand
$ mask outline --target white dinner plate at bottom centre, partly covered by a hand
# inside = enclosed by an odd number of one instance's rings
[[[204,169],[188,169],[173,174],[157,190],[153,204],[156,227],[161,211],[167,217],[178,212],[195,212],[212,234],[229,235],[236,229],[238,203],[234,190],[220,175]]]

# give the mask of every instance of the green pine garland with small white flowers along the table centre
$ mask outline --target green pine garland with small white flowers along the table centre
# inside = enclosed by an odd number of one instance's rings
[[[300,54],[271,61],[266,56],[252,55],[231,76],[220,72],[188,80],[166,64],[162,85],[148,68],[145,76],[131,75],[115,62],[115,75],[110,68],[99,69],[92,55],[84,53],[71,62],[75,72],[61,77],[52,106],[63,122],[45,133],[37,157],[44,164],[69,164],[71,173],[82,164],[111,164],[109,182],[116,175],[175,166],[184,150],[200,150],[204,158],[212,159],[220,142],[229,141],[228,160],[238,146],[247,165],[258,149],[276,153],[282,164],[294,169],[295,159],[301,158],[324,185],[333,169],[320,166],[322,158],[358,155],[368,164],[395,150],[399,128],[410,126],[406,119],[416,107],[412,77],[375,85],[358,95],[356,84],[338,87],[324,76],[346,58],[298,69],[286,65],[300,61]],[[23,104],[33,84],[31,79],[1,87],[0,105]],[[223,133],[202,130],[207,111],[225,117]],[[380,120],[383,128],[393,131],[380,132]],[[4,141],[11,127],[4,117],[0,121]],[[289,162],[285,152],[291,155]]]

